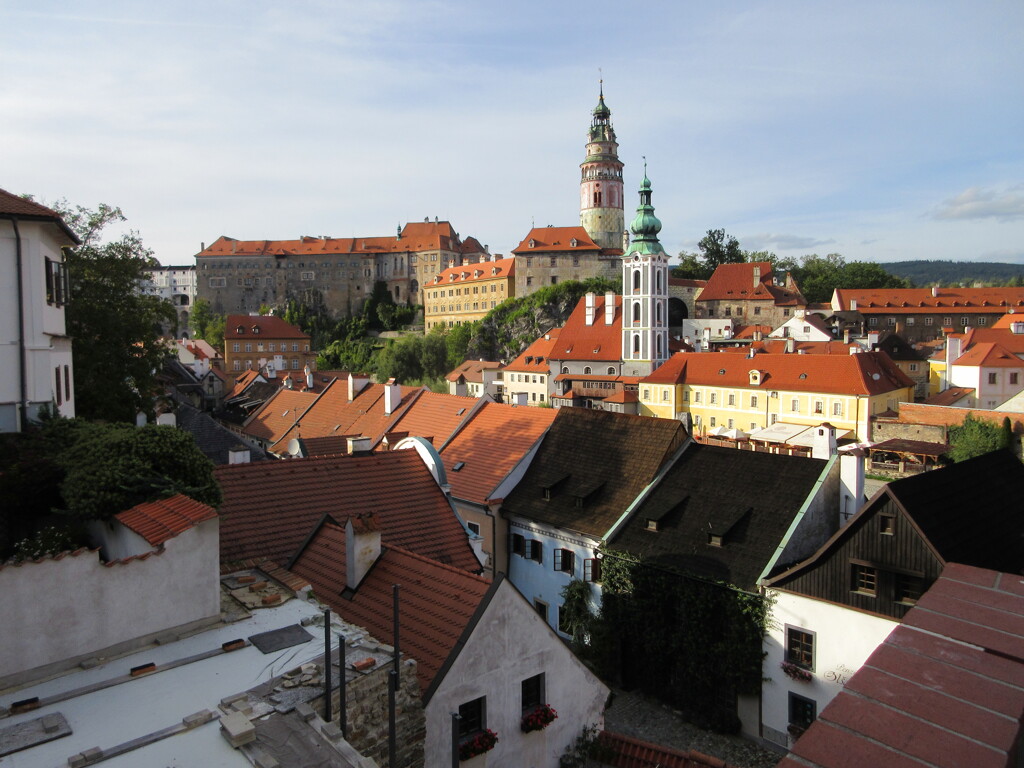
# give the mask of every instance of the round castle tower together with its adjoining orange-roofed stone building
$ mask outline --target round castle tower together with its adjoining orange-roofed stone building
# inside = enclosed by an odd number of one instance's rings
[[[618,276],[627,240],[623,162],[603,85],[587,132],[586,153],[580,164],[580,226],[534,227],[512,249],[516,296],[565,280]]]

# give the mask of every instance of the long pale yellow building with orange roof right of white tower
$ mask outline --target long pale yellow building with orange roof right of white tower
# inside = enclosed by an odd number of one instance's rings
[[[870,417],[913,401],[913,382],[883,352],[755,354],[680,352],[640,380],[640,413],[663,419],[689,414],[693,431],[750,432],[777,422],[827,421],[857,440]]]

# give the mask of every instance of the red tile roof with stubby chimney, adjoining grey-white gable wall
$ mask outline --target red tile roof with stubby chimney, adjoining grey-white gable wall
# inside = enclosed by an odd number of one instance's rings
[[[385,518],[381,534],[385,542],[388,534]],[[382,547],[380,558],[347,599],[341,597],[345,561],[345,528],[327,520],[291,569],[306,579],[316,596],[346,622],[365,628],[388,644],[394,642],[392,585],[397,584],[400,648],[416,659],[420,688],[426,692],[456,649],[490,583],[388,545]]]

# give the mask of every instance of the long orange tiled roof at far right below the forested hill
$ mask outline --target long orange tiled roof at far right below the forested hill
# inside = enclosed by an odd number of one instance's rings
[[[1024,307],[1024,288],[941,288],[938,296],[930,288],[866,289],[837,288],[835,308],[861,314],[915,314],[948,311],[949,314],[1002,314]]]

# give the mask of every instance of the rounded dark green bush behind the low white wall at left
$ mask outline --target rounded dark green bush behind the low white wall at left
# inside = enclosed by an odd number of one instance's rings
[[[91,424],[60,452],[65,511],[79,520],[103,520],[156,499],[184,494],[218,506],[213,464],[188,432],[148,424]]]

